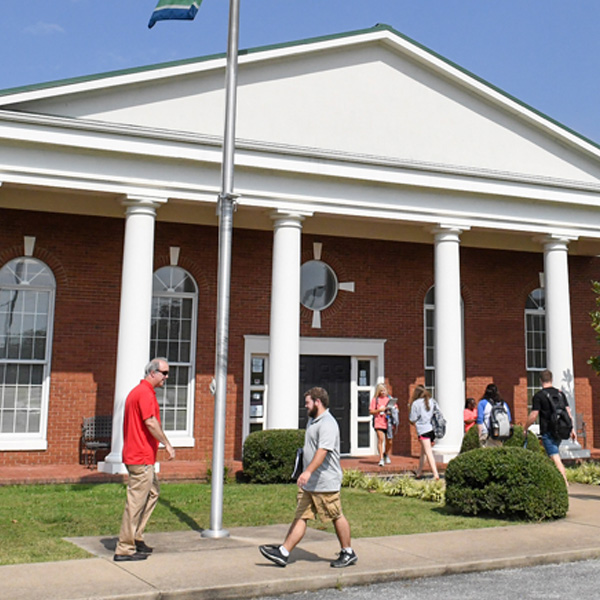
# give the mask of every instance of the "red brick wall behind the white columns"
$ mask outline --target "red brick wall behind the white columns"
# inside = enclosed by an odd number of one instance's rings
[[[4,235],[0,264],[22,255],[24,235],[36,237],[35,256],[57,279],[48,450],[2,452],[0,465],[76,463],[83,417],[112,413],[124,220],[2,210]],[[233,243],[229,332],[226,458],[241,456],[243,425],[244,335],[268,335],[272,232],[236,230]],[[406,402],[423,382],[423,299],[433,284],[433,246],[304,235],[303,261],[312,244],[323,243],[322,259],[340,281],[354,281],[321,314],[301,310],[301,335],[385,338],[386,377],[400,398],[401,426],[396,453],[417,453],[408,425]],[[208,386],[214,370],[218,232],[215,227],[158,222],[155,267],[169,264],[169,246],[179,246],[179,265],[199,286],[196,351],[195,448],[178,449],[181,460],[210,464],[213,397]],[[588,424],[593,445],[599,413],[596,376],[586,364],[598,348],[589,325],[594,308],[589,282],[598,260],[570,258],[574,363],[578,411]],[[542,254],[461,249],[465,317],[467,395],[481,397],[495,382],[514,412],[526,417],[524,307],[538,286]],[[140,374],[141,376],[141,374]],[[159,457],[160,458],[160,457]]]

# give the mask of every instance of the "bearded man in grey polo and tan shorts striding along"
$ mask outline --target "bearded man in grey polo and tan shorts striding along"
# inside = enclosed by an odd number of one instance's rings
[[[306,533],[308,519],[333,521],[341,546],[338,558],[331,561],[334,568],[353,565],[358,557],[350,544],[350,524],[342,513],[340,489],[340,428],[329,412],[326,390],[314,387],[304,394],[308,424],[304,437],[304,471],[298,477],[296,515],[281,546],[259,546],[261,554],[280,567],[288,563],[290,552]]]

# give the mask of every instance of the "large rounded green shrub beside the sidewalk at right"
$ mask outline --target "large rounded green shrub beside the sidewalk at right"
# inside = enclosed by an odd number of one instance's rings
[[[467,515],[542,521],[564,517],[569,497],[546,456],[524,448],[479,448],[448,464],[446,505]]]

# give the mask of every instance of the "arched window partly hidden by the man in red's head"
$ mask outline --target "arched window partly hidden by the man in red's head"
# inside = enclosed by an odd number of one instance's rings
[[[154,273],[150,356],[165,357],[170,374],[157,390],[163,429],[171,443],[193,445],[194,365],[198,287],[180,267]]]

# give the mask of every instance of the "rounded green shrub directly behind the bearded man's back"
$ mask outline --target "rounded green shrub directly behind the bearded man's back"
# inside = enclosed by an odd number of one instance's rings
[[[243,469],[250,483],[289,483],[304,430],[255,431],[244,442]]]

